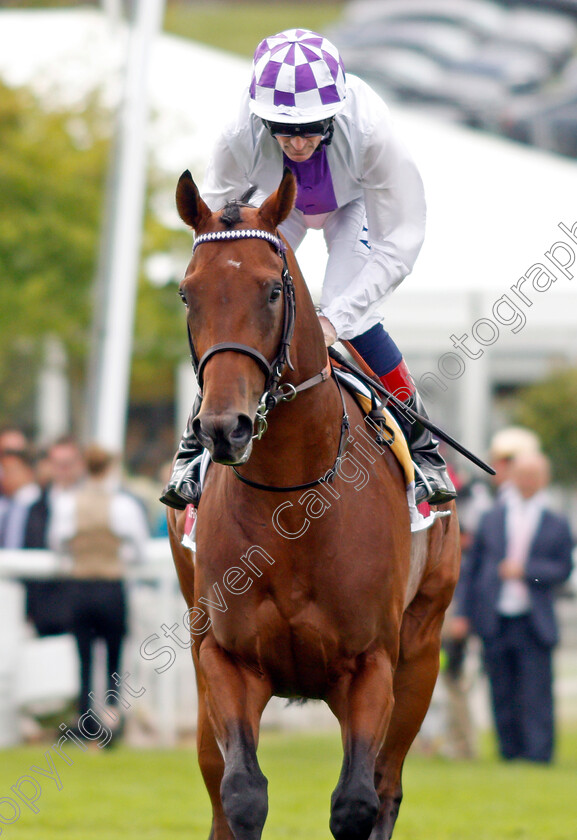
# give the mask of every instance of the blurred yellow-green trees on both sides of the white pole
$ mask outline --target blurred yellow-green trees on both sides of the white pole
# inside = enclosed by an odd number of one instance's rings
[[[1,422],[34,426],[48,334],[66,350],[73,405],[83,402],[110,128],[110,115],[95,103],[50,112],[30,91],[0,84]],[[153,179],[155,189],[164,188]],[[169,231],[147,210],[144,253],[173,250],[179,237],[190,252],[189,234]],[[185,262],[183,256],[183,269]],[[159,288],[141,276],[133,360],[138,400],[172,396],[185,336],[174,282]]]

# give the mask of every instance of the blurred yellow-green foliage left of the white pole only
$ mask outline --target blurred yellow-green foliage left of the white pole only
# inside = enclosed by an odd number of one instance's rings
[[[3,419],[30,400],[42,337],[77,379],[86,353],[108,143],[101,115],[47,112],[0,86],[0,393]],[[15,375],[16,374],[16,375]]]

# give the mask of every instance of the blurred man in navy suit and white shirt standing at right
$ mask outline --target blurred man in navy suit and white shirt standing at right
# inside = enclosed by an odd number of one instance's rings
[[[460,582],[461,620],[483,641],[505,759],[553,757],[554,596],[571,574],[573,541],[565,517],[548,508],[549,481],[541,452],[509,462],[506,493],[481,519]]]

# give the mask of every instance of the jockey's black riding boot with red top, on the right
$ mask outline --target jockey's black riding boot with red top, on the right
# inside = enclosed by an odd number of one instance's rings
[[[390,373],[380,377],[385,388],[418,414],[427,418],[423,401],[404,360]],[[394,413],[407,439],[415,464],[415,497],[417,504],[428,502],[441,505],[456,498],[457,491],[447,472],[447,465],[439,452],[439,441],[418,420],[407,417],[394,404]]]

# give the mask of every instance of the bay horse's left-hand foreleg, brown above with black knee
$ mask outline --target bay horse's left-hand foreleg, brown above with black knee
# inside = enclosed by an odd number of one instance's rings
[[[267,780],[256,756],[260,718],[270,698],[264,679],[238,665],[215,643],[200,651],[200,669],[207,687],[208,714],[214,738],[224,762],[216,761],[208,744],[207,787],[214,787],[220,776],[220,803],[213,799],[215,840],[260,840],[268,813]],[[204,775],[204,774],[203,774]],[[220,807],[229,826],[229,834],[218,834]]]

